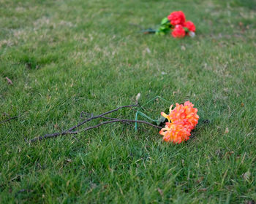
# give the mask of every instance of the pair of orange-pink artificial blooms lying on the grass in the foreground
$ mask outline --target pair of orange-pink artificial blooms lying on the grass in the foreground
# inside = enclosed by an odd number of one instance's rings
[[[173,105],[170,106],[170,114],[161,113],[163,117],[168,119],[165,127],[159,132],[164,136],[164,141],[180,144],[189,139],[190,132],[195,128],[199,119],[197,109],[193,106],[189,101],[185,102],[184,105],[176,103],[175,109],[172,110]]]

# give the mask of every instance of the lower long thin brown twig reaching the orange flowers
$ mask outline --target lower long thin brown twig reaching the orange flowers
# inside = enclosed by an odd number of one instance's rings
[[[105,122],[101,122],[101,123],[99,123],[97,125],[94,125],[94,126],[91,126],[91,127],[86,127],[83,130],[77,130],[77,131],[73,131],[73,132],[72,131],[64,131],[62,133],[46,134],[45,136],[39,136],[37,138],[31,139],[29,142],[42,141],[43,139],[46,139],[46,138],[55,138],[57,136],[64,136],[64,135],[67,135],[67,134],[78,134],[81,131],[86,132],[87,130],[91,130],[93,128],[97,128],[99,126],[106,125],[106,124],[109,124],[109,123],[112,123],[112,122],[139,122],[139,123],[143,123],[143,124],[146,124],[146,125],[150,125],[151,127],[155,127],[155,128],[158,128],[158,129],[162,128],[162,127],[159,127],[157,125],[153,125],[150,122],[146,122],[146,121],[143,121],[143,120],[113,119],[113,120],[108,120],[108,121],[105,121]]]

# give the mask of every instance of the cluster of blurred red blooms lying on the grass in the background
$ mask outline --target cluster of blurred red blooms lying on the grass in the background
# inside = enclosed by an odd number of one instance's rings
[[[172,12],[167,17],[173,28],[172,35],[175,38],[183,38],[186,35],[195,36],[195,25],[192,21],[186,21],[184,12]]]

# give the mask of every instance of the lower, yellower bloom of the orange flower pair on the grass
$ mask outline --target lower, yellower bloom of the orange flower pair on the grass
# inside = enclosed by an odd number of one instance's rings
[[[165,127],[162,128],[159,133],[164,136],[164,141],[173,142],[174,144],[187,141],[191,135],[190,130],[179,122],[166,122]]]

